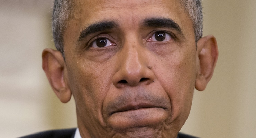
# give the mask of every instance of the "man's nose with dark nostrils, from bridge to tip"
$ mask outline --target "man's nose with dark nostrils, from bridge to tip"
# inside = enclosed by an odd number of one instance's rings
[[[117,88],[122,88],[152,83],[155,75],[149,65],[149,57],[149,51],[141,46],[124,46],[118,53],[119,66],[113,76],[113,84]]]

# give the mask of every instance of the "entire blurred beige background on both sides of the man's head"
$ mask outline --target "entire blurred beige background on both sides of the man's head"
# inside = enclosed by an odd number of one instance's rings
[[[14,138],[76,127],[75,104],[62,104],[41,67],[54,47],[52,0],[0,0],[0,134]],[[204,36],[219,59],[207,89],[195,91],[182,132],[203,137],[256,137],[256,1],[203,0]]]

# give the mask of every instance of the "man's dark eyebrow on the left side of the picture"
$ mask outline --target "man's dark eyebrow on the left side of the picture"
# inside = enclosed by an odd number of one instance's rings
[[[118,25],[113,21],[102,21],[102,22],[97,22],[97,23],[91,24],[80,32],[78,42],[82,41],[86,36],[88,36],[92,33],[107,31],[107,30],[113,29],[117,26]]]

